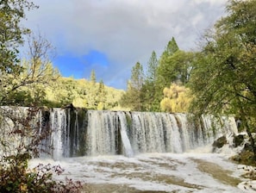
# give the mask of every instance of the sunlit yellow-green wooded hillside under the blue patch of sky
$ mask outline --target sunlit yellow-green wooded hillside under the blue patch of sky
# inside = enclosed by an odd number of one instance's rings
[[[121,109],[119,100],[124,90],[93,83],[86,79],[58,78],[46,90],[48,106],[59,107],[72,103],[86,109]]]

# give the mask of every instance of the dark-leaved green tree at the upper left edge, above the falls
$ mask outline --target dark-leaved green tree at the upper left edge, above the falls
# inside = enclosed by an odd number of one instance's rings
[[[25,19],[25,11],[35,8],[28,1],[0,2],[0,105],[8,104],[9,96],[16,95],[16,78],[22,72],[19,50],[23,44],[22,35],[28,34],[28,28],[22,28],[20,22]]]

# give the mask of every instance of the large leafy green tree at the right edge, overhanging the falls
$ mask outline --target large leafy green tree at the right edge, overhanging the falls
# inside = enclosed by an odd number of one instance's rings
[[[204,35],[190,79],[191,109],[201,115],[234,114],[251,140],[256,128],[256,1],[229,1],[228,15]]]

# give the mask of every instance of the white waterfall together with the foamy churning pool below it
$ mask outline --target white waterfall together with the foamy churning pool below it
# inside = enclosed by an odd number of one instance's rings
[[[226,158],[232,153],[229,137],[237,134],[234,117],[204,115],[191,122],[185,114],[85,109],[52,109],[47,115],[41,129],[53,132],[41,146],[53,146],[53,159],[42,155],[29,167],[60,165],[65,172],[56,179],[79,180],[91,188],[87,192],[242,192],[245,187],[238,188],[246,179]],[[209,153],[223,135],[230,142],[219,152],[225,154]]]

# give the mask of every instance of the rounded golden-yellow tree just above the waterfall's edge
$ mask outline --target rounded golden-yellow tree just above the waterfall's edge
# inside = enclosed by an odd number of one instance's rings
[[[178,84],[171,84],[170,88],[163,90],[164,98],[160,102],[162,111],[170,113],[188,112],[191,98],[188,95],[189,89]]]

